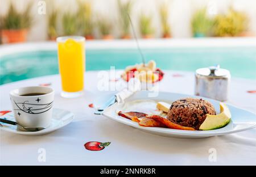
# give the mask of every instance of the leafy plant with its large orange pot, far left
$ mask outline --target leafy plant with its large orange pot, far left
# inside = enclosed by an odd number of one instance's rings
[[[27,31],[32,24],[29,3],[23,12],[18,12],[11,3],[5,16],[1,17],[2,41],[6,43],[20,43],[27,39]]]

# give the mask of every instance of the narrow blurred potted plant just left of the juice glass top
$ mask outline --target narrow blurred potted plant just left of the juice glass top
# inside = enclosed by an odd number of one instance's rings
[[[48,28],[47,34],[49,40],[56,40],[57,37],[57,15],[59,14],[58,10],[52,10],[48,15]]]

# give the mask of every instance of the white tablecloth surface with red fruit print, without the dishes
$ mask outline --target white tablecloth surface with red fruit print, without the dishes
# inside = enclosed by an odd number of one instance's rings
[[[182,77],[174,77],[173,74]],[[85,74],[85,95],[60,97],[59,75],[14,82],[0,87],[1,110],[11,109],[9,91],[22,86],[51,82],[56,91],[55,108],[75,113],[75,120],[44,136],[22,136],[1,131],[0,165],[256,165],[256,129],[227,136],[180,139],[156,136],[93,115],[88,104],[104,91],[97,90],[97,72]],[[193,94],[193,73],[166,71],[160,91]],[[229,103],[256,112],[256,81],[232,78]],[[88,141],[110,141],[101,151],[84,148]],[[46,150],[46,162],[39,162],[38,150]],[[216,162],[209,161],[209,149],[216,149]]]

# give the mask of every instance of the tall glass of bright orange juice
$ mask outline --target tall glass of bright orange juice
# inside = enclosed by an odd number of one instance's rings
[[[83,94],[85,72],[85,38],[82,36],[57,37],[59,71],[65,98]]]

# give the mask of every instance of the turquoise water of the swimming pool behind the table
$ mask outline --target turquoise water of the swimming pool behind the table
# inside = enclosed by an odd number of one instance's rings
[[[256,79],[255,47],[143,49],[147,60],[161,69],[195,71],[214,64],[230,70],[232,77]],[[87,49],[86,70],[124,69],[141,62],[137,49]],[[57,74],[56,50],[22,52],[0,58],[0,84]]]

